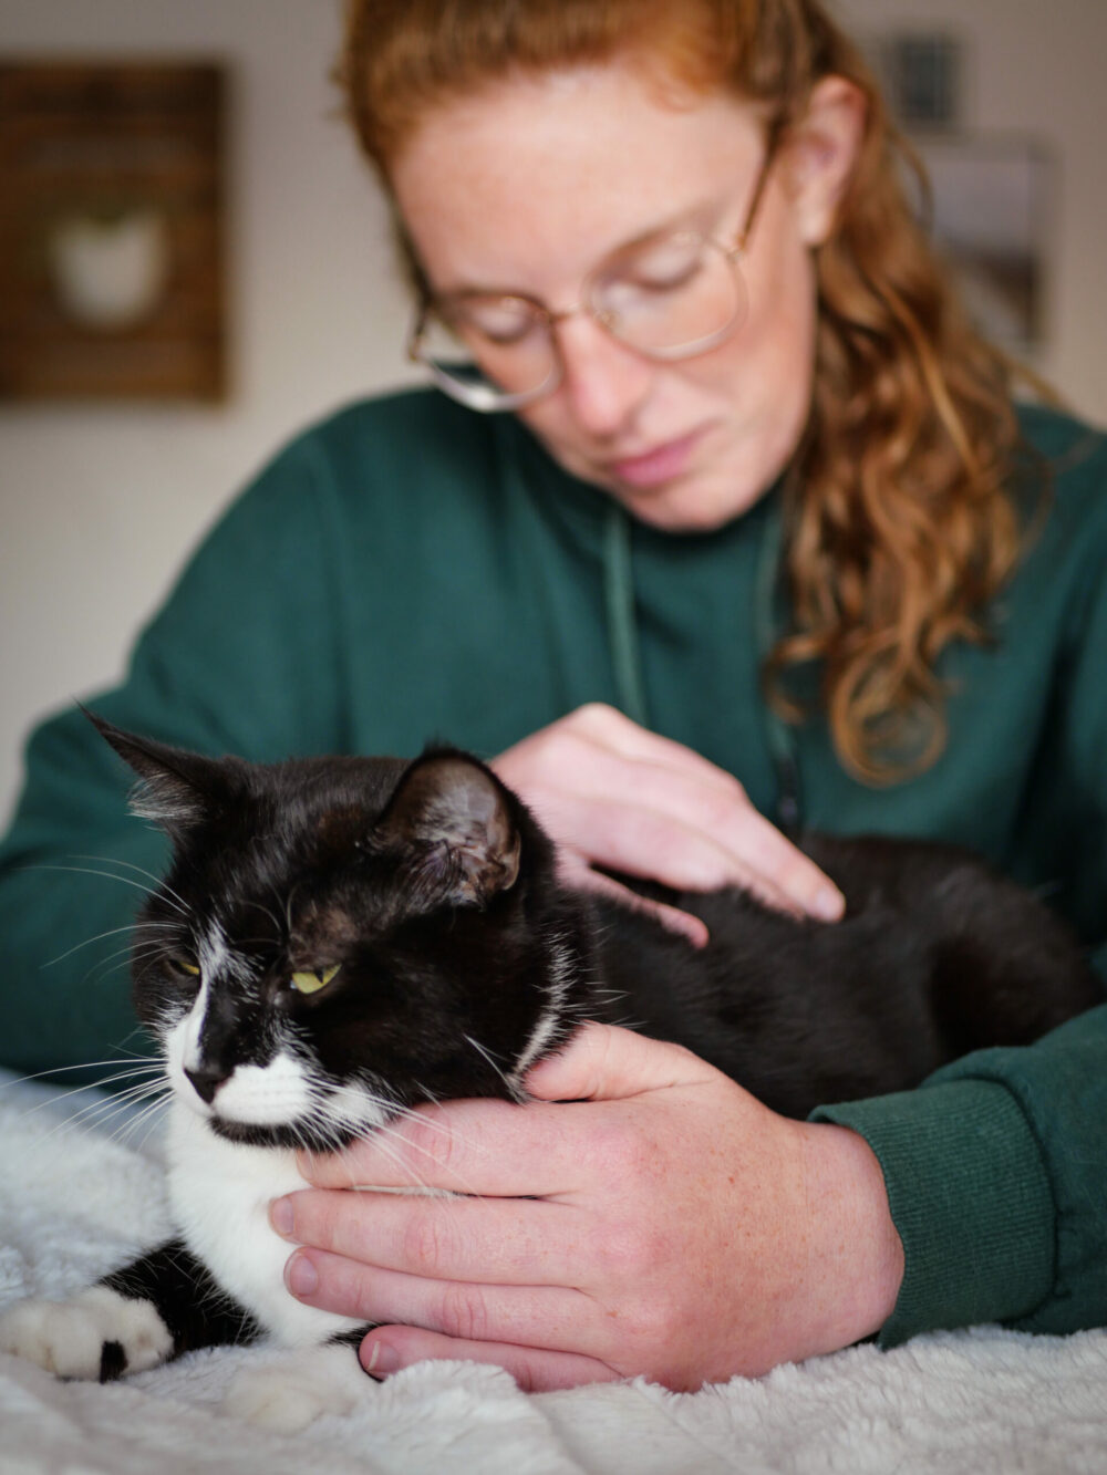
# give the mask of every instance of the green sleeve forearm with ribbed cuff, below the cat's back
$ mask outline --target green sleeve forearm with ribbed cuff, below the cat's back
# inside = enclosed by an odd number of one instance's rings
[[[917,1092],[822,1106],[880,1159],[905,1274],[881,1330],[1107,1325],[1107,1004]]]

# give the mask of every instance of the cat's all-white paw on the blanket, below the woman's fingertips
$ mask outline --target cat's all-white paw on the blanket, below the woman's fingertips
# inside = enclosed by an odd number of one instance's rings
[[[375,1386],[353,1347],[308,1347],[236,1373],[223,1412],[277,1434],[295,1434],[325,1413],[350,1413]]]

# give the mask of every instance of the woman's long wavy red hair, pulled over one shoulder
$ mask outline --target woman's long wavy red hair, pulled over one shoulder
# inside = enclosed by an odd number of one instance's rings
[[[905,190],[911,153],[822,4],[347,0],[338,77],[387,186],[430,109],[512,74],[615,58],[762,105],[785,146],[822,78],[843,77],[865,97],[852,180],[815,254],[815,386],[788,476],[793,622],[766,681],[800,720],[788,671],[821,662],[840,761],[872,783],[917,773],[946,739],[937,658],[952,640],[987,639],[986,606],[1023,540],[1010,490],[1013,367],[964,319]]]

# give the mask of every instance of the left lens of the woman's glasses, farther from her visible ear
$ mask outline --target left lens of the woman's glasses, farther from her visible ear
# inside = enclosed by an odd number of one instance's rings
[[[412,353],[447,394],[477,410],[509,410],[556,375],[549,327],[523,298],[474,296],[430,310]]]

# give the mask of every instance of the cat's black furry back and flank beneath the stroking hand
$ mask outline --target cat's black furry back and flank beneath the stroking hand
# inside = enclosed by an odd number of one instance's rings
[[[1069,928],[971,853],[827,835],[801,848],[841,888],[840,922],[737,889],[670,895],[710,929],[695,950],[605,906],[613,1009],[799,1117],[909,1089],[973,1049],[1027,1044],[1101,1002]]]

